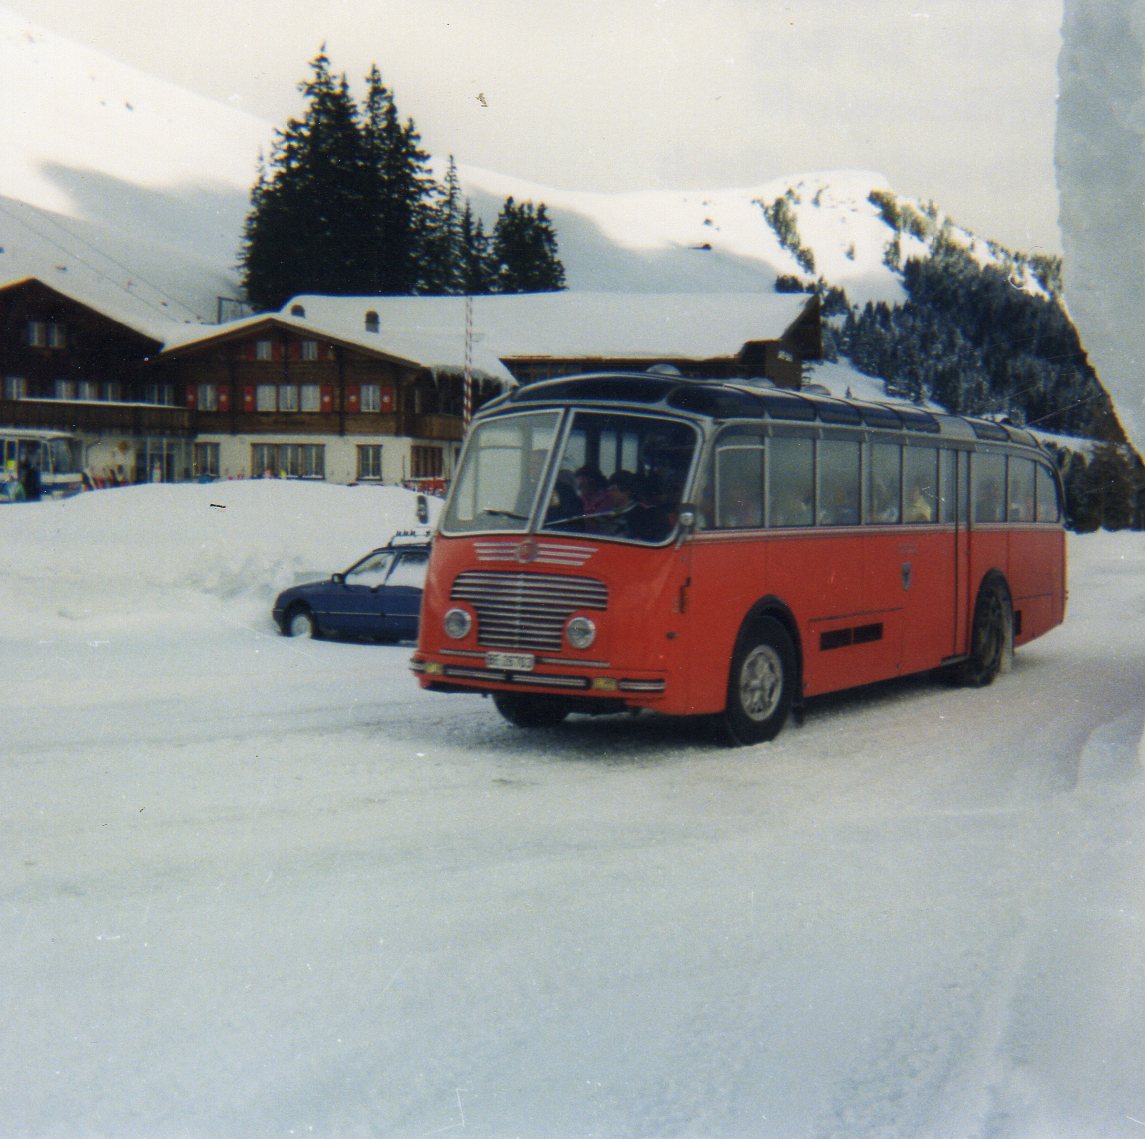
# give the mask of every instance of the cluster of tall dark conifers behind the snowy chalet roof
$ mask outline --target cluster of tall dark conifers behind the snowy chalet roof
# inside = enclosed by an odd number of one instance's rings
[[[251,190],[239,263],[250,302],[298,293],[442,295],[564,287],[544,204],[507,199],[491,234],[444,183],[377,66],[358,104],[325,53],[299,85],[306,111],[276,132]]]

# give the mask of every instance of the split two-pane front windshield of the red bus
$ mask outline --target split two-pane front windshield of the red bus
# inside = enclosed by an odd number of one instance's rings
[[[692,474],[697,434],[656,416],[538,411],[479,424],[444,531],[548,530],[666,540]]]

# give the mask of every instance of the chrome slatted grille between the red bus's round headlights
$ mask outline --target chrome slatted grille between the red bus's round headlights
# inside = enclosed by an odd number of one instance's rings
[[[585,609],[608,608],[608,586],[556,574],[459,574],[450,594],[477,615],[477,642],[534,652],[561,649],[564,622]]]

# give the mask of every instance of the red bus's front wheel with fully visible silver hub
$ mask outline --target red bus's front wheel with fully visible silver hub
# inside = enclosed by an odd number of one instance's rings
[[[774,739],[791,711],[795,680],[795,646],[777,620],[764,617],[741,633],[721,725],[727,742],[740,746]]]

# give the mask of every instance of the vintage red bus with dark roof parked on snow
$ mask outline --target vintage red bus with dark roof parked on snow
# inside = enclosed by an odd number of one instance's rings
[[[771,739],[811,696],[990,683],[1063,620],[1061,503],[1009,425],[764,381],[520,387],[474,418],[411,666],[522,727],[654,709]]]

